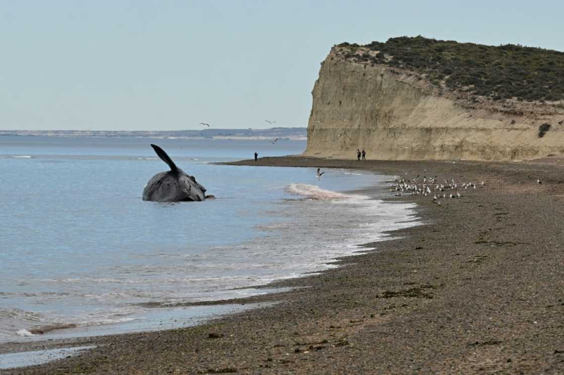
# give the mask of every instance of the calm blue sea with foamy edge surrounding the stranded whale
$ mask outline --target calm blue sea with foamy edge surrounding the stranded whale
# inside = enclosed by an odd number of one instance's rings
[[[217,199],[143,202],[147,181],[168,169],[150,143]],[[143,328],[155,310],[147,302],[263,293],[250,287],[327,269],[357,244],[418,224],[413,204],[354,192],[389,176],[212,164],[305,145],[0,136],[0,342],[45,326]]]

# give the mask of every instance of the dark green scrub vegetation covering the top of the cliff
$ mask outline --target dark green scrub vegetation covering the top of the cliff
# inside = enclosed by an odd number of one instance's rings
[[[390,38],[365,46],[341,43],[345,57],[425,74],[433,84],[488,96],[493,100],[564,99],[564,52],[519,44],[484,46],[421,36]],[[379,51],[362,52],[359,48]],[[360,51],[360,53],[358,53]]]

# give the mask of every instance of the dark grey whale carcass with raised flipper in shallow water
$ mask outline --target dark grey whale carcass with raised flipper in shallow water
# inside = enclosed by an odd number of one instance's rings
[[[174,164],[169,155],[157,145],[151,144],[170,171],[157,173],[143,189],[143,200],[154,202],[200,202],[206,198],[206,188],[196,182],[194,176],[187,175]]]

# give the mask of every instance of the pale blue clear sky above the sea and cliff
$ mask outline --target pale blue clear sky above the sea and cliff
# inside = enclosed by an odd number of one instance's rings
[[[562,1],[0,0],[0,129],[305,127],[334,44],[564,51],[563,14]]]

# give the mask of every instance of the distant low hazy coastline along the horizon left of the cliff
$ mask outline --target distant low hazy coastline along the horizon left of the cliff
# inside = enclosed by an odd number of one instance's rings
[[[138,137],[162,139],[273,139],[292,141],[307,140],[307,128],[268,129],[204,129],[204,130],[0,130],[0,136],[43,136],[43,137]]]

